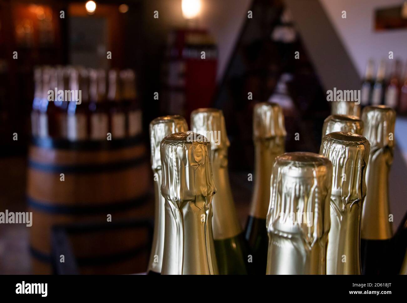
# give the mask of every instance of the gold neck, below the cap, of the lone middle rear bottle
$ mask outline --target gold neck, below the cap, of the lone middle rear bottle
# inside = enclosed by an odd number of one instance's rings
[[[284,153],[285,137],[254,140],[254,194],[250,216],[265,219],[270,203],[270,179],[274,160]]]

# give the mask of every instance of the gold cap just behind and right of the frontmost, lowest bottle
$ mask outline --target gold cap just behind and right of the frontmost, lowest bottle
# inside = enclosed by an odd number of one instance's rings
[[[329,133],[322,141],[321,154],[331,161],[335,172],[332,194],[341,196],[342,202],[363,201],[366,196],[365,174],[369,152],[369,141],[354,133]],[[337,206],[341,210],[346,207]]]

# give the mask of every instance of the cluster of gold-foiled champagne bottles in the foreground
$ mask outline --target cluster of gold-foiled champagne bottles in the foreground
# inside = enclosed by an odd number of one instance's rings
[[[385,105],[365,107],[361,118],[333,114],[324,122],[319,154],[284,153],[281,107],[258,103],[255,190],[245,233],[230,194],[222,111],[193,111],[193,131],[181,116],[156,118],[150,124],[159,177],[149,273],[403,272],[405,227],[393,237],[388,216],[395,118]]]

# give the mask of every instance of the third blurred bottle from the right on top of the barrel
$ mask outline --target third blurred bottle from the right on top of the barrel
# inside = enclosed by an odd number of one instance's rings
[[[90,78],[90,139],[103,140],[109,132],[108,107],[106,105],[106,72],[89,70]]]

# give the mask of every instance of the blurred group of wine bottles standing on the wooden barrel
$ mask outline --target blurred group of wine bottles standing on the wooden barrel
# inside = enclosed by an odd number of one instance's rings
[[[34,83],[34,137],[113,140],[142,131],[133,70],[41,66]]]

